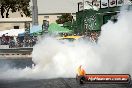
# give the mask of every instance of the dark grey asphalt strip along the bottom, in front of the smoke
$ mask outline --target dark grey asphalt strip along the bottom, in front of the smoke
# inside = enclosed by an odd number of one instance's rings
[[[78,84],[75,78],[0,80],[0,88],[132,88],[127,84]]]

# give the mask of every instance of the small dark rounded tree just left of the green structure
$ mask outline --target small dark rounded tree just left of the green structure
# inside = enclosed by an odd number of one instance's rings
[[[73,16],[70,13],[63,13],[57,20],[56,23],[63,24],[65,22],[72,22]]]

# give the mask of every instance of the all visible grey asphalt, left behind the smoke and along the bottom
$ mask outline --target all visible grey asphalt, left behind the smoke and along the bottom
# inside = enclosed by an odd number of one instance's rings
[[[4,64],[10,67],[25,68],[32,66],[31,59],[19,60],[0,60],[0,69]],[[14,74],[15,75],[15,74]],[[0,88],[132,88],[131,84],[83,84],[76,82],[75,78],[56,78],[56,79],[17,79],[0,80]]]

